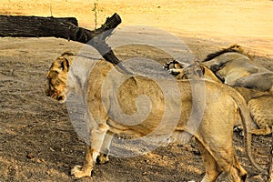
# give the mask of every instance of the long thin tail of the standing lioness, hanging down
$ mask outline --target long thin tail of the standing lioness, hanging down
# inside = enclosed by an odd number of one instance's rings
[[[267,171],[263,169],[262,167],[259,167],[258,164],[255,162],[254,158],[252,157],[252,152],[251,152],[251,137],[252,134],[250,133],[251,129],[251,116],[248,111],[248,106],[243,98],[238,92],[237,94],[232,94],[231,95],[234,99],[234,101],[238,105],[238,112],[242,120],[242,124],[244,127],[244,139],[245,139],[245,147],[246,147],[246,152],[248,154],[248,159],[250,163],[253,165],[253,167],[256,167],[261,173],[267,174]]]

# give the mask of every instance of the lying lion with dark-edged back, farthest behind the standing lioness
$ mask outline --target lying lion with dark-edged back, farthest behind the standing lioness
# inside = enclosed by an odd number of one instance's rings
[[[240,45],[210,54],[202,64],[229,86],[273,91],[273,72],[255,63]]]

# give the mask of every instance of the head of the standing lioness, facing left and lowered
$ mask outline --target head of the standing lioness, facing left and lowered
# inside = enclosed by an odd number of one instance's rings
[[[70,61],[65,55],[56,58],[46,75],[46,96],[50,96],[60,102],[66,101],[66,80],[69,66]]]

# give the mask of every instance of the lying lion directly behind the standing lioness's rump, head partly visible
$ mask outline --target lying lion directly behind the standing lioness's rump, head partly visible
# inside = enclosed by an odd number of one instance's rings
[[[202,72],[203,76],[199,76],[197,72]],[[220,79],[214,75],[214,73],[202,63],[195,63],[185,68],[172,69],[171,74],[175,74],[177,79],[189,78],[201,78],[204,77],[209,80],[213,80],[221,83]],[[241,86],[233,86],[246,100],[248,103],[248,109],[255,122],[252,133],[255,135],[269,135],[272,131],[272,120],[273,120],[273,96],[270,91],[262,92],[259,90],[248,89]],[[237,119],[236,126],[240,127],[240,120]],[[258,128],[257,128],[257,127]]]

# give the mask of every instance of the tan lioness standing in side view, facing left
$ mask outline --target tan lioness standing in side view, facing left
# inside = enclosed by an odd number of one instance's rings
[[[93,118],[86,118],[88,122],[92,122],[90,128],[92,145],[86,146],[84,165],[76,166],[71,170],[71,174],[75,177],[89,177],[97,158],[99,161],[108,160],[108,147],[111,142],[109,136],[126,134],[137,138],[148,136],[157,130],[157,137],[170,134],[168,137],[171,137],[172,140],[183,140],[183,134],[191,133],[196,138],[206,167],[206,175],[202,181],[216,181],[222,172],[227,173],[230,181],[245,181],[248,173],[240,166],[232,141],[236,112],[239,112],[245,126],[248,158],[254,167],[264,172],[251,156],[251,135],[248,132],[251,117],[247,105],[243,97],[231,87],[204,80],[192,83],[188,80],[177,81],[179,96],[174,96],[174,99],[167,105],[163,91],[154,80],[146,76],[120,74],[126,77],[121,85],[116,83],[116,77],[110,76],[105,81],[107,74],[115,70],[115,67],[105,60],[90,61],[90,64],[93,64],[92,70],[90,73],[86,72],[88,76],[85,78],[78,76],[71,66],[75,58],[76,56],[66,54],[56,58],[47,72],[48,82],[45,90],[46,96],[51,96],[60,102],[66,100],[66,96],[72,89],[85,93],[83,96],[86,100],[86,113]],[[68,79],[73,79],[73,81],[70,82]],[[162,82],[167,83],[168,80],[162,78]],[[192,94],[194,88],[202,84],[205,84],[206,88],[205,101],[201,100],[203,98],[195,98]],[[107,87],[107,95],[103,94],[103,86]],[[113,90],[114,87],[118,89]],[[142,108],[136,107],[138,96],[148,96],[152,104],[143,122],[126,125],[117,120],[118,116],[115,116],[117,109],[122,110],[126,115],[143,111]],[[193,107],[194,100],[197,100],[197,103],[204,101],[206,104],[202,118],[191,116],[192,112],[202,107],[201,105]],[[116,108],[116,104],[120,108]],[[180,115],[177,119],[169,120],[162,126],[161,119],[166,114],[165,111],[175,109],[177,106],[181,106]],[[190,117],[193,119],[193,125],[197,124],[197,120],[200,119],[200,125],[196,131],[187,125]],[[176,126],[171,128],[170,126],[173,126],[174,123]],[[169,133],[170,128],[173,129],[171,133]]]

